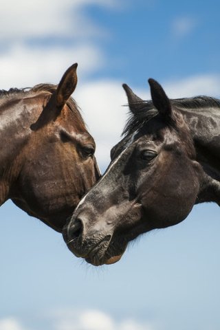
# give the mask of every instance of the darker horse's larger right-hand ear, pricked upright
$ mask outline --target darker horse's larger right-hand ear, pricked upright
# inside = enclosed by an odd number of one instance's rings
[[[172,119],[171,103],[162,86],[152,78],[148,79],[148,83],[151,87],[153,105],[166,119]]]

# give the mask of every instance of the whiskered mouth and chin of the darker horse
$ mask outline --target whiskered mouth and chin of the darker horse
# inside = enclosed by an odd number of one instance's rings
[[[124,254],[126,245],[126,243],[119,244],[111,241],[111,236],[109,235],[89,251],[87,256],[85,256],[85,261],[94,266],[117,263],[121,259],[122,254]]]

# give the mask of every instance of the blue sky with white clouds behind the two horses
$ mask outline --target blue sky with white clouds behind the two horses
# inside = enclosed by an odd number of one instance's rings
[[[217,0],[8,0],[0,10],[0,89],[58,83],[74,98],[102,172],[128,109],[122,83],[150,98],[220,96]],[[0,208],[0,330],[219,330],[220,223],[214,203],[142,235],[94,267],[11,201]]]

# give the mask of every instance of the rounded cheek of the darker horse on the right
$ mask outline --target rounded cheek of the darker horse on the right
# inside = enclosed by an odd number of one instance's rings
[[[182,174],[178,177],[163,177],[143,196],[144,217],[152,228],[166,228],[183,221],[195,204],[199,181],[194,171],[186,166],[179,173]]]

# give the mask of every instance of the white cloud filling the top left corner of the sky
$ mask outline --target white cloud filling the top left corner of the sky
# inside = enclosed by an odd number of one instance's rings
[[[115,0],[8,0],[1,3],[1,40],[102,33],[83,13],[85,5],[117,7]]]

